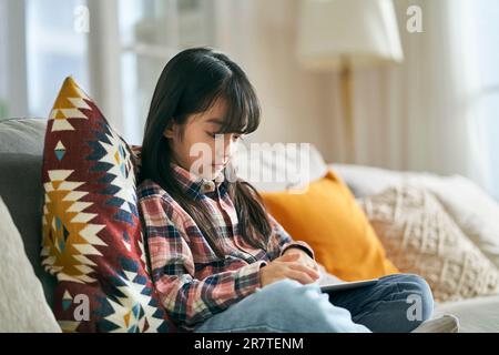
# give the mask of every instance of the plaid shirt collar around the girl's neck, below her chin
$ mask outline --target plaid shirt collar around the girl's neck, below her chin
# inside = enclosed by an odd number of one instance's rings
[[[221,194],[226,191],[227,184],[224,172],[220,173],[214,180],[206,180],[175,163],[172,163],[172,169],[181,189],[194,200],[204,194],[215,192],[217,189]]]

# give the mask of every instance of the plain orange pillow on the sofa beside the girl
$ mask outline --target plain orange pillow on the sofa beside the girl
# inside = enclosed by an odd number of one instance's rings
[[[305,193],[262,193],[268,212],[296,241],[307,242],[316,261],[345,281],[399,271],[343,181],[329,171]]]

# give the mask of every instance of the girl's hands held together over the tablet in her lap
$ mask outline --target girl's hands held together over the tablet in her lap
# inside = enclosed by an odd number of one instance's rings
[[[299,262],[298,253],[285,253],[283,256],[275,258],[268,265],[259,270],[259,282],[262,287],[276,281],[291,278],[302,284],[310,284],[319,278],[319,273]]]

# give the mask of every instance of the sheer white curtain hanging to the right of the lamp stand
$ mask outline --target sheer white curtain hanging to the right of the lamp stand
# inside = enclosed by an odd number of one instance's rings
[[[405,61],[355,72],[355,163],[457,173],[482,183],[487,156],[473,104],[477,67],[469,2],[395,4]],[[414,4],[422,10],[422,33],[406,30],[406,11]]]

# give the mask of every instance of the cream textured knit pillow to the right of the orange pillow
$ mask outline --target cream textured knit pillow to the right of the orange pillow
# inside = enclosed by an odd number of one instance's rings
[[[499,293],[499,270],[428,190],[404,184],[358,202],[387,257],[425,277],[437,302]]]

